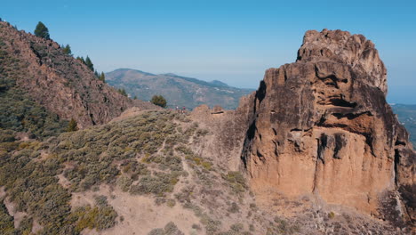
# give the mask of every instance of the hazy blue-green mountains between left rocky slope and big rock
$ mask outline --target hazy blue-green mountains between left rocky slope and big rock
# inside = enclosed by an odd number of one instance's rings
[[[254,91],[232,87],[218,80],[205,82],[172,73],[156,75],[136,69],[116,69],[106,74],[106,81],[109,85],[124,89],[132,98],[136,96],[148,101],[153,95],[161,94],[168,106],[185,106],[188,109],[201,104],[236,109],[239,99]]]

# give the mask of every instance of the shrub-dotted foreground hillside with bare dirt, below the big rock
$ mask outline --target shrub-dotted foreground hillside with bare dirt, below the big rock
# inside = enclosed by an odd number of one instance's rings
[[[312,198],[276,201],[295,215],[259,207],[238,158],[205,148],[222,129],[206,118],[228,114],[145,110],[45,142],[0,140],[0,233],[401,234]]]

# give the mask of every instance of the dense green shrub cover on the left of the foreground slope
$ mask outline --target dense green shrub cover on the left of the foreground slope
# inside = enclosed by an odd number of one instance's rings
[[[166,195],[184,174],[181,158],[169,144],[164,149],[167,137],[178,134],[172,122],[178,116],[169,111],[148,112],[127,121],[60,134],[48,142],[20,142],[14,139],[14,131],[0,130],[0,185],[19,211],[41,224],[43,234],[107,229],[117,216],[107,199],[99,197],[96,207],[71,212],[71,192],[109,183],[166,202]],[[47,153],[41,153],[44,151]],[[70,167],[65,167],[68,163]],[[58,174],[71,183],[68,189],[60,185]],[[174,205],[174,200],[167,201]],[[2,218],[4,224],[10,220]]]

